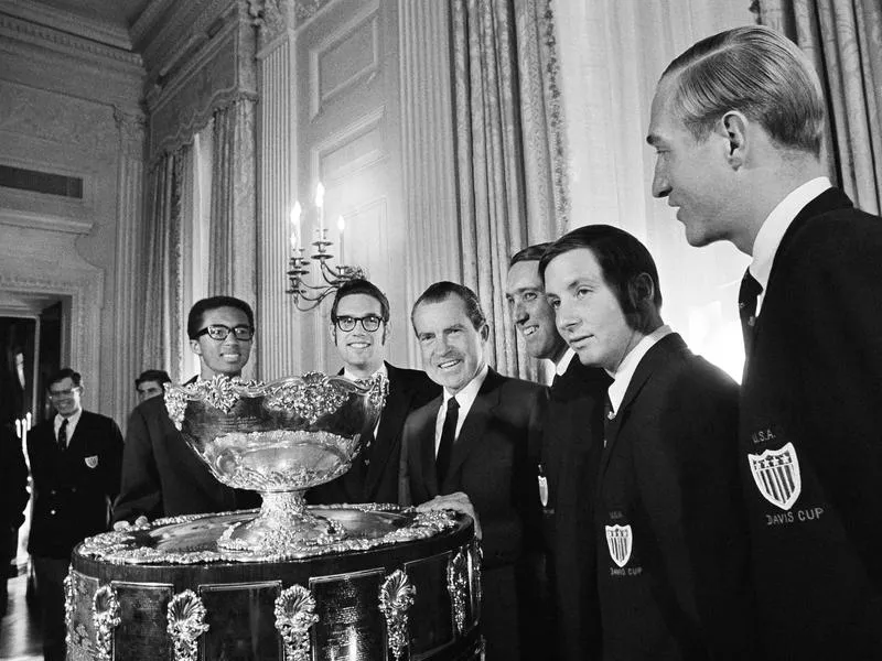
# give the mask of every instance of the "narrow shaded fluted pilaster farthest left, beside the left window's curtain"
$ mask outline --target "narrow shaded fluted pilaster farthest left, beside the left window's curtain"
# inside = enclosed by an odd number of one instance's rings
[[[114,419],[123,426],[136,403],[133,379],[141,371],[143,288],[140,228],[143,214],[144,117],[114,109],[119,132],[117,167],[117,245],[114,277],[115,337],[107,342],[114,361]],[[163,366],[159,366],[163,367]]]

